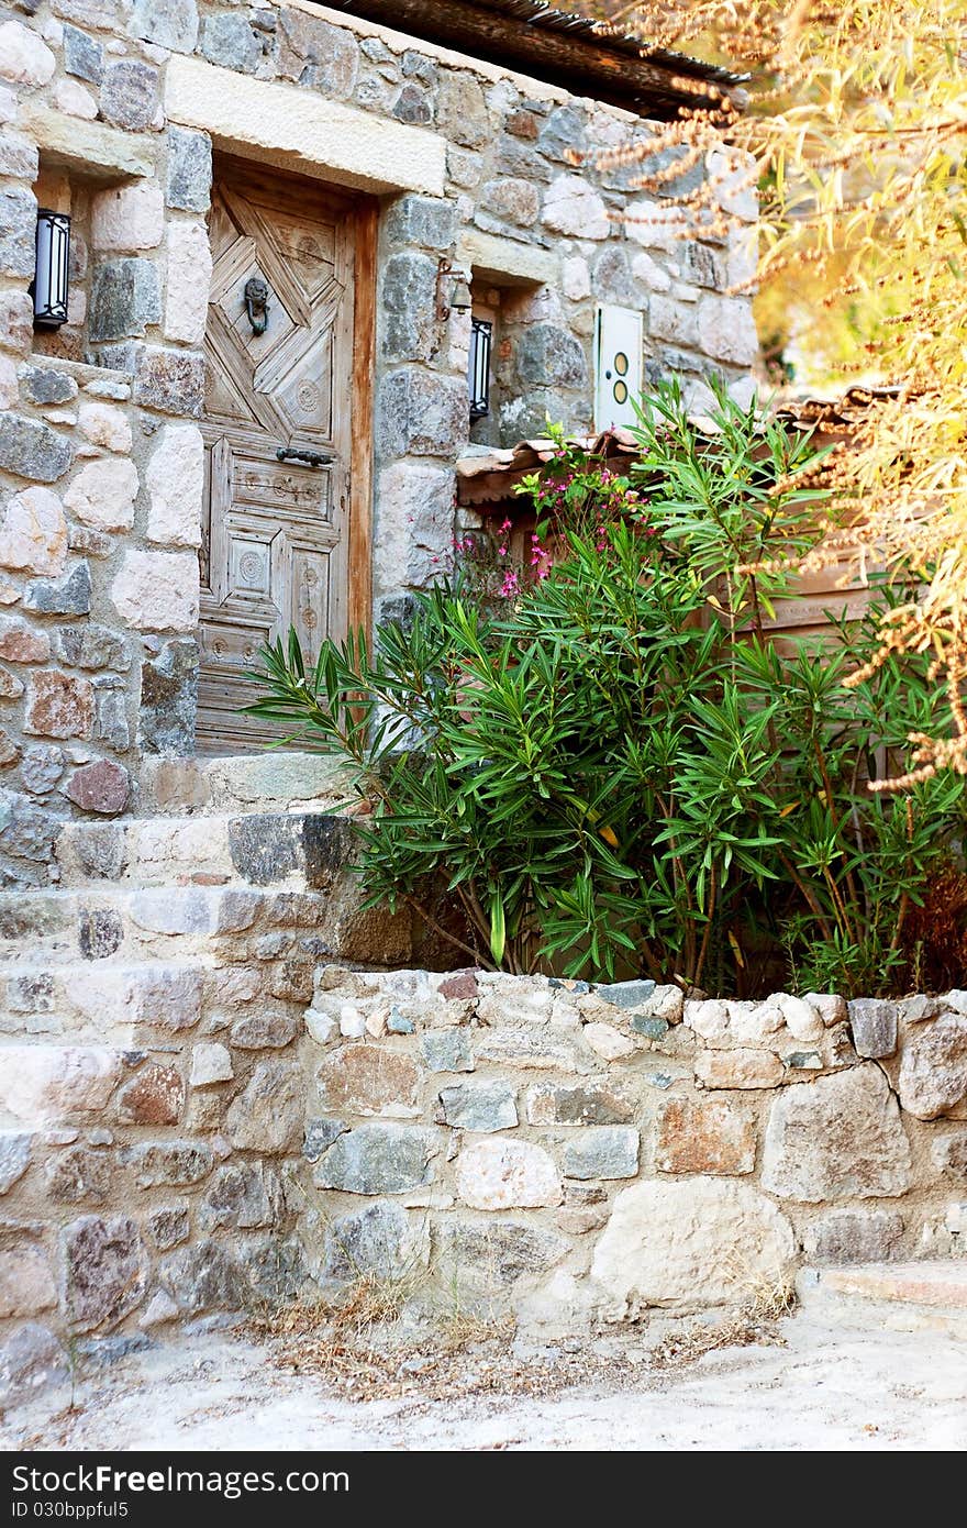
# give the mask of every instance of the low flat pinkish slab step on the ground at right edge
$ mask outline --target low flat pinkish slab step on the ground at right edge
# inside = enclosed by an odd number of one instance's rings
[[[967,1339],[967,1258],[804,1268],[796,1294],[808,1316],[837,1326]]]

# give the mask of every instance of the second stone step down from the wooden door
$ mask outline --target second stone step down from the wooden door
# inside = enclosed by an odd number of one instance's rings
[[[277,886],[327,889],[354,851],[347,817],[321,811],[67,822],[60,886]]]

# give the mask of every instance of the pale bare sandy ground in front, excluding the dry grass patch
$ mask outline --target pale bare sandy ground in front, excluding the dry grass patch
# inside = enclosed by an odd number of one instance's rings
[[[964,1450],[967,1343],[840,1331],[804,1316],[785,1346],[707,1354],[548,1395],[344,1400],[251,1342],[194,1337],[11,1413],[5,1449]],[[472,1366],[472,1355],[467,1365]]]

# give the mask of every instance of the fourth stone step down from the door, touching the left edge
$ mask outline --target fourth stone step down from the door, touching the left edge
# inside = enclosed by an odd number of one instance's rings
[[[133,1047],[142,1025],[177,1033],[202,1018],[211,961],[0,964],[0,1044]],[[0,1051],[0,1056],[3,1053]]]

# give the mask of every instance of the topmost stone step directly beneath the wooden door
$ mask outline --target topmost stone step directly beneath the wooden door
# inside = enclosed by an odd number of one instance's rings
[[[148,814],[330,811],[351,795],[341,766],[324,753],[266,749],[225,758],[145,758]]]

